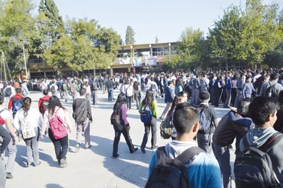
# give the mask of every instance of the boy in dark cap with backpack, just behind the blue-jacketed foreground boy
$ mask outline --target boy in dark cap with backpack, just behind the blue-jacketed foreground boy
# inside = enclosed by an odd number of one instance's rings
[[[208,154],[212,153],[212,134],[218,125],[216,110],[209,106],[210,93],[201,91],[199,93],[199,132],[196,134],[199,148]]]

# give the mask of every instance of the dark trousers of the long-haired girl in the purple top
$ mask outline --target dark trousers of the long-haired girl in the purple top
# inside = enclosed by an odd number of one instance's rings
[[[118,144],[120,141],[120,137],[121,137],[121,133],[124,135],[124,138],[126,140],[126,143],[128,145],[128,149],[130,150],[130,152],[133,152],[134,150],[134,145],[132,143],[132,139],[128,134],[128,130],[126,130],[126,127],[123,126],[122,130],[118,130],[115,126],[113,126],[114,130],[115,130],[115,138],[114,138],[114,143],[113,143],[113,153],[112,156],[117,156],[118,155]]]

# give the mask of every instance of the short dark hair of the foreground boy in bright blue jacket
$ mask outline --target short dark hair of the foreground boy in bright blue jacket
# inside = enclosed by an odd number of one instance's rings
[[[183,104],[176,106],[173,115],[173,124],[178,133],[190,132],[197,121],[199,121],[199,110]]]

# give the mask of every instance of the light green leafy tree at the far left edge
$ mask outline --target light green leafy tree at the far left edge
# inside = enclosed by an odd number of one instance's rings
[[[31,10],[29,0],[0,3],[0,49],[5,53],[12,74],[25,67],[27,52],[32,51],[32,41],[37,36]]]

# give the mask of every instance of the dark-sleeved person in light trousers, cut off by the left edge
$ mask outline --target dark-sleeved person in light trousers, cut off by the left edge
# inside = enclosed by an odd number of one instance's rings
[[[5,173],[5,150],[11,141],[11,136],[5,128],[0,125],[0,188],[5,188],[6,173]]]

